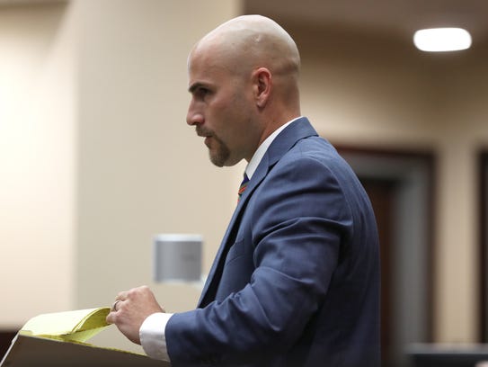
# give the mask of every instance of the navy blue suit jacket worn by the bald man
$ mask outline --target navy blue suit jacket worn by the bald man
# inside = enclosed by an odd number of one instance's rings
[[[165,329],[173,366],[379,366],[373,210],[306,118],[262,158],[198,309]]]

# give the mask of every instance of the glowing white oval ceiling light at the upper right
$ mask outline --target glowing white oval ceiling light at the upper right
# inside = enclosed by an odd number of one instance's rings
[[[416,31],[413,43],[422,51],[457,51],[471,47],[471,35],[462,28],[430,28]]]

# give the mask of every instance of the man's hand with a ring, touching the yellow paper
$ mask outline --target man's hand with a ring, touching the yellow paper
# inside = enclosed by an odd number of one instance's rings
[[[164,309],[155,300],[154,293],[144,285],[121,291],[107,316],[107,322],[115,324],[131,342],[140,345],[139,328],[155,312],[164,312]]]

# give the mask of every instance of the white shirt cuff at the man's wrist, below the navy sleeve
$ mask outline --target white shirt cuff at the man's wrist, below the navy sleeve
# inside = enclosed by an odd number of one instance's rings
[[[170,362],[164,330],[172,316],[173,314],[170,313],[157,312],[148,316],[142,323],[139,328],[139,337],[147,356]]]

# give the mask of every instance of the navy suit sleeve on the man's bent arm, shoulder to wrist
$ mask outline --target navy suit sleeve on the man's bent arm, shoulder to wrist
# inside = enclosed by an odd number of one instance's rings
[[[351,219],[341,185],[323,163],[288,157],[253,192],[245,216],[254,271],[241,291],[166,326],[173,366],[242,363],[297,342],[326,294]]]

